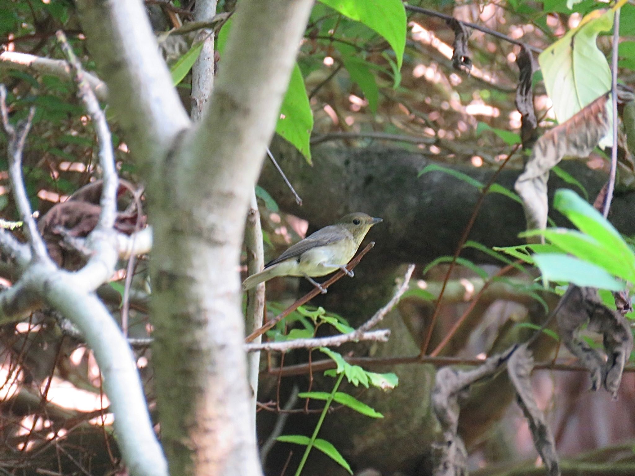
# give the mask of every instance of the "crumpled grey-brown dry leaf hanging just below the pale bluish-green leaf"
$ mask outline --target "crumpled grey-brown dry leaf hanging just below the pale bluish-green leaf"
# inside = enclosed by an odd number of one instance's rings
[[[604,305],[595,288],[573,286],[558,313],[563,343],[591,373],[591,388],[604,387],[617,398],[624,366],[631,355],[633,337],[624,315]],[[580,339],[580,327],[602,334],[606,355]]]

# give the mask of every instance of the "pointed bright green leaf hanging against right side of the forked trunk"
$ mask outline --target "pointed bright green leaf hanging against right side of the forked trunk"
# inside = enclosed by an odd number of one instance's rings
[[[290,142],[304,155],[311,164],[311,131],[313,129],[313,113],[307,88],[300,67],[295,63],[291,72],[289,86],[284,95],[280,116],[276,124],[276,133]]]

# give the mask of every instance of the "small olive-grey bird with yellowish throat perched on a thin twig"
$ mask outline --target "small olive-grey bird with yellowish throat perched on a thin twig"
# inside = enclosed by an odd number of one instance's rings
[[[381,221],[384,220],[360,212],[342,216],[335,225],[321,228],[269,261],[264,270],[243,281],[243,289],[254,288],[276,276],[304,276],[321,293],[326,293],[326,289],[311,277],[324,276],[338,269],[353,277],[354,273],[345,265],[355,255],[370,227]]]

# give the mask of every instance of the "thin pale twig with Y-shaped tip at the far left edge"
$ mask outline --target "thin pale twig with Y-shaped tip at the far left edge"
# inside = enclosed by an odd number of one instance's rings
[[[25,232],[27,237],[29,237],[29,246],[33,257],[39,261],[47,261],[49,258],[46,253],[46,245],[37,230],[37,224],[33,218],[29,196],[24,188],[24,178],[22,176],[22,151],[24,150],[24,143],[36,110],[32,107],[29,110],[29,116],[26,121],[19,122],[17,127],[12,126],[9,122],[9,109],[6,105],[6,89],[4,85],[0,85],[0,112],[4,131],[6,131],[8,136],[9,175],[13,197],[15,198],[20,218],[26,225]]]

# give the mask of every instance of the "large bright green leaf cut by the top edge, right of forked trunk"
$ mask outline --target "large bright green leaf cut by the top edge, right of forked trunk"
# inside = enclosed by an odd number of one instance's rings
[[[401,69],[406,48],[406,10],[401,0],[320,1],[383,36],[394,50],[398,69]]]

